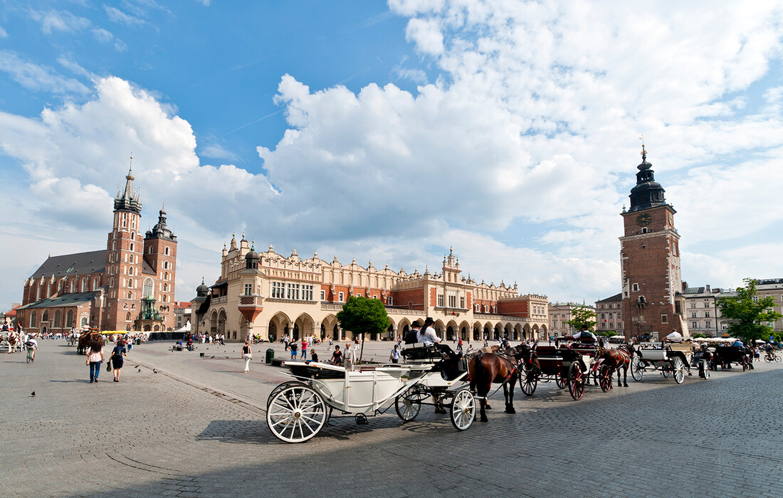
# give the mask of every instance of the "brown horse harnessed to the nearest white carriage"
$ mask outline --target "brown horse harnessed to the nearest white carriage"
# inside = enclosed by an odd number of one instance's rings
[[[521,346],[508,350],[510,354],[479,352],[467,363],[467,378],[471,383],[471,391],[481,398],[481,421],[486,422],[487,396],[492,384],[503,384],[503,396],[506,399],[506,413],[517,413],[514,410],[514,384],[519,377],[518,361],[521,357]],[[511,384],[511,388],[509,388]]]

